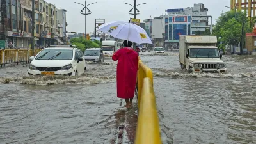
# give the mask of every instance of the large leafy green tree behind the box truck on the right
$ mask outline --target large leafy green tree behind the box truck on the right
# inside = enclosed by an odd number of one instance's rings
[[[241,11],[235,12],[234,10],[220,15],[213,29],[213,35],[217,36],[220,49],[225,49],[225,45],[227,44],[238,44],[241,42],[243,22],[245,42],[245,33],[252,31],[246,15]]]

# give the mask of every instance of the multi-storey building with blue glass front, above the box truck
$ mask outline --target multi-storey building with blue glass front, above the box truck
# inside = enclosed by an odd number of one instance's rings
[[[194,4],[192,8],[168,9],[164,16],[165,45],[168,47],[179,44],[180,35],[194,35],[195,31],[206,31],[208,26],[208,9],[204,4]]]

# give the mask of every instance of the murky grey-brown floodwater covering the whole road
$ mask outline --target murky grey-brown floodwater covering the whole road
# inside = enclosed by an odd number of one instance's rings
[[[224,56],[227,74],[188,74],[179,54],[142,53],[154,72],[163,143],[255,143],[256,57]],[[0,143],[134,141],[136,108],[116,99],[116,62],[88,63],[86,74],[27,76],[0,69]]]

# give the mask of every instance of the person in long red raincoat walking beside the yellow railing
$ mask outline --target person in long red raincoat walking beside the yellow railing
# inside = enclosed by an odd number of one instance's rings
[[[131,48],[132,42],[124,40],[124,47],[116,51],[112,60],[117,61],[117,97],[125,99],[126,107],[132,106],[138,71],[138,54]],[[130,100],[129,100],[130,99]]]

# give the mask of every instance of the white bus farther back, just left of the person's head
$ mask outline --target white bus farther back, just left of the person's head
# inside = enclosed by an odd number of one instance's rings
[[[106,40],[102,42],[102,51],[104,56],[113,56],[114,51],[117,51],[117,49],[116,41]]]

